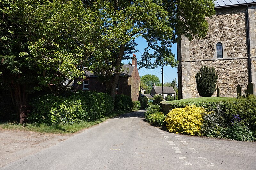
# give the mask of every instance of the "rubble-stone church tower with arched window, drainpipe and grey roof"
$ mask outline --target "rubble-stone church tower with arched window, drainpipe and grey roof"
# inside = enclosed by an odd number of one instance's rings
[[[179,99],[199,97],[195,76],[204,65],[215,68],[220,97],[236,97],[238,84],[243,92],[256,84],[256,0],[217,0],[215,11],[206,18],[205,38],[189,42],[181,35],[177,44]]]

